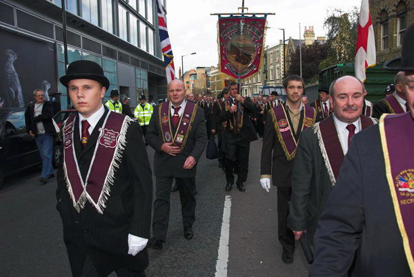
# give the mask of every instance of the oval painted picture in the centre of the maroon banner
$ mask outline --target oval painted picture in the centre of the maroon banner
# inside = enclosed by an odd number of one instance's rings
[[[230,39],[226,52],[228,61],[230,61],[238,72],[242,72],[255,59],[255,42],[250,37],[239,34]]]

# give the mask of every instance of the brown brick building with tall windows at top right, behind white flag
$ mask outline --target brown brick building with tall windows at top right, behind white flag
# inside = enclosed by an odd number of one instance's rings
[[[377,63],[401,56],[406,28],[414,23],[413,0],[370,0]]]

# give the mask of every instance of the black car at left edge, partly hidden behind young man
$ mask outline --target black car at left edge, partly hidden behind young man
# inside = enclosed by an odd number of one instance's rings
[[[41,164],[39,150],[32,136],[26,132],[25,109],[0,109],[0,187],[3,178]],[[60,158],[60,141],[53,147],[53,167]]]

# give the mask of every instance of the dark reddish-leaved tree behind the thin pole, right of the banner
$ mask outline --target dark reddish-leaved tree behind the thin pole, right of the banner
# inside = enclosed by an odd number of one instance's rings
[[[315,42],[310,45],[302,45],[302,78],[305,83],[317,81],[319,76],[319,63],[326,59],[328,45],[326,43]],[[290,53],[290,66],[288,75],[300,74],[299,46],[295,52]]]

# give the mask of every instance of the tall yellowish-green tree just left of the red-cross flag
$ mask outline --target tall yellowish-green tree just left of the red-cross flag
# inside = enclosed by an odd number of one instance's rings
[[[358,35],[359,11],[357,7],[344,12],[334,9],[326,17],[324,28],[328,30],[328,55],[319,65],[319,70],[337,63],[353,63],[355,43]]]

